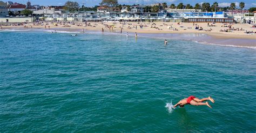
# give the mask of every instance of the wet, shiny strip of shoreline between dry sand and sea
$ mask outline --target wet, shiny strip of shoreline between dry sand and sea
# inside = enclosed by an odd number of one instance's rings
[[[74,28],[74,27],[53,27],[50,29],[45,29],[42,27],[35,27],[35,28],[24,28],[23,26],[15,26],[15,27],[8,27],[3,28],[4,31],[8,30],[19,30],[19,31],[57,31],[57,32],[73,32],[73,33],[83,33],[83,28]],[[100,30],[93,30],[93,29],[86,29],[85,33],[102,33]],[[130,36],[133,36],[135,33],[132,30],[123,30],[123,35],[126,35],[126,32],[130,33]],[[218,33],[205,33],[205,32],[163,32],[163,31],[136,31],[138,36],[142,37],[149,37],[155,39],[172,39],[172,40],[186,40],[186,41],[194,41],[197,43],[201,43],[203,45],[218,45],[218,46],[229,46],[229,47],[243,47],[243,48],[252,48],[256,49],[256,35],[251,35],[249,38],[244,38],[244,36],[240,35],[230,35],[230,34],[218,34]],[[104,31],[104,33],[115,33],[120,34],[120,31]],[[133,34],[131,34],[133,33]],[[237,37],[240,36],[240,37]]]

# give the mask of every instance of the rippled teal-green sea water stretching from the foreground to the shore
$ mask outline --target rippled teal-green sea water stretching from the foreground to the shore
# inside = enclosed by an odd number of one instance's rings
[[[256,131],[255,49],[70,34],[0,32],[0,132]]]

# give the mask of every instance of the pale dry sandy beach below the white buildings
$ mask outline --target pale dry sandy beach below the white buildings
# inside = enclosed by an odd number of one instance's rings
[[[155,22],[155,23],[138,23],[138,22],[129,22],[129,23],[89,23],[87,26],[85,23],[47,23],[47,24],[26,24],[28,28],[65,28],[65,29],[85,29],[93,31],[102,31],[104,32],[120,32],[123,28],[123,32],[137,32],[137,33],[204,33],[208,35],[215,36],[217,38],[241,38],[241,39],[256,39],[256,28],[253,28],[249,24],[224,24],[224,23],[171,23],[171,22]],[[143,27],[140,28],[140,25]],[[209,26],[208,26],[209,25]],[[50,26],[50,28],[49,28]],[[112,27],[113,26],[113,27]],[[201,27],[202,30],[195,29],[195,27]],[[228,32],[221,32],[221,30],[228,30],[229,27],[234,28]],[[3,26],[3,28],[22,28],[24,26]],[[136,28],[137,27],[137,28]],[[237,30],[239,29],[239,31]],[[254,32],[254,34],[246,34],[245,32]]]

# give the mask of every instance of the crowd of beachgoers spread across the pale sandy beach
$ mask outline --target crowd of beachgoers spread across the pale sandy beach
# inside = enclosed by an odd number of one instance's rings
[[[232,35],[256,35],[256,28],[251,24],[235,23],[181,23],[181,22],[45,22],[36,21],[34,23],[14,23],[2,24],[3,28],[74,28],[95,31],[115,31],[115,32],[138,32],[138,33],[225,33]]]

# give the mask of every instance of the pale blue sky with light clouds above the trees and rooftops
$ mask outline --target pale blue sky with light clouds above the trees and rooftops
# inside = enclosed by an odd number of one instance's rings
[[[3,0],[0,0],[3,1]],[[9,0],[10,1],[10,0]],[[12,0],[11,0],[12,1]],[[12,2],[22,3],[25,4],[28,0],[13,0]],[[32,5],[64,5],[67,0],[30,0]],[[102,0],[70,0],[70,1],[76,1],[79,3],[80,6],[85,3],[85,6],[95,6],[99,5],[99,3]],[[6,2],[6,0],[4,1]],[[229,6],[230,3],[236,3],[237,8],[239,8],[239,2],[245,3],[245,9],[249,9],[252,7],[256,7],[256,1],[255,0],[118,0],[119,4],[153,4],[153,3],[163,3],[166,2],[167,4],[178,4],[178,3],[184,3],[184,4],[191,4],[195,5],[196,3],[203,3],[203,2],[209,2],[212,4],[213,2],[218,2],[219,6]]]

